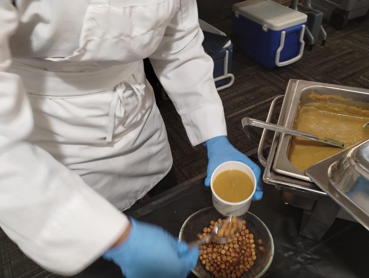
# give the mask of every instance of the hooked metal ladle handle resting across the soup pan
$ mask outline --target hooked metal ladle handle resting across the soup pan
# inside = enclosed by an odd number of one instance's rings
[[[287,128],[287,127],[283,127],[283,126],[278,126],[277,124],[271,124],[271,123],[266,123],[265,121],[259,121],[259,120],[255,120],[255,119],[251,119],[251,118],[244,118],[242,119],[242,127],[244,128],[244,131],[247,135],[248,138],[250,138],[250,134],[247,130],[247,126],[256,126],[256,127],[261,127],[261,128],[266,128],[269,130],[274,130],[274,131],[278,131],[280,133],[285,133],[285,134],[290,134],[290,135],[294,135],[297,137],[302,137],[302,138],[306,138],[306,139],[310,139],[310,140],[314,140],[314,141],[318,141],[320,143],[324,143],[324,144],[328,144],[334,147],[339,147],[339,148],[344,148],[345,144],[338,142],[336,140],[332,140],[329,138],[319,138],[313,134],[310,133],[306,133],[300,130],[295,130],[292,128]]]

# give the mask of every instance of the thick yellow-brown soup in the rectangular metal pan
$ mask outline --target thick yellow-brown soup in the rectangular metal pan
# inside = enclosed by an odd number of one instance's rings
[[[318,95],[314,92],[309,97],[318,99],[320,102],[308,103],[301,107],[294,124],[295,129],[318,137],[337,140],[344,143],[345,148],[369,138],[369,126],[362,127],[369,121],[368,109],[329,102],[330,99],[341,103],[350,101],[342,97]],[[294,167],[305,171],[315,163],[342,150],[342,148],[312,140],[293,137],[289,160]]]

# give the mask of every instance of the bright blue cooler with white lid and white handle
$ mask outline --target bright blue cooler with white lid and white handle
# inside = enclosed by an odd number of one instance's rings
[[[232,27],[242,51],[268,69],[299,60],[304,52],[307,15],[270,0],[233,5]]]

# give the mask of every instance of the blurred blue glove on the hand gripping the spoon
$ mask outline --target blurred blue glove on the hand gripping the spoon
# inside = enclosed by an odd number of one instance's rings
[[[188,250],[161,227],[130,220],[128,238],[103,258],[117,264],[127,278],[186,278],[196,266],[199,247]]]

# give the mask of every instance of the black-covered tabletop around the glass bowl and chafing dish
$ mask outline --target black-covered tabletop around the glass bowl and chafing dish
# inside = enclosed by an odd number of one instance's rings
[[[253,202],[250,212],[270,230],[275,254],[263,277],[368,278],[369,231],[358,223],[336,219],[320,241],[300,236],[303,210],[286,205],[280,192],[263,184],[264,196]],[[178,185],[125,213],[159,224],[175,236],[192,213],[212,206],[211,190],[204,179]],[[188,278],[196,277],[190,274]]]

